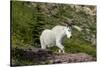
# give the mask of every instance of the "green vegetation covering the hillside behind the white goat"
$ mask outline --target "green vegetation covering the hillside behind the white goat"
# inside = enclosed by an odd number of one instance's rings
[[[24,1],[12,1],[12,49],[40,47],[39,36],[44,29],[51,29],[55,25],[62,24],[68,19],[74,19],[77,25],[87,25],[91,34],[96,35],[96,19],[85,12],[75,12],[74,8],[65,4],[31,3]],[[94,6],[92,6],[94,7]],[[85,26],[84,26],[85,27]],[[91,35],[90,34],[90,35]],[[72,39],[64,39],[65,51],[68,53],[87,53],[96,57],[96,47],[84,40],[86,31],[72,31]],[[52,48],[51,48],[52,49]],[[58,48],[53,48],[57,50]],[[12,56],[13,58],[14,56]],[[21,60],[22,61],[22,60]],[[16,64],[31,64],[32,62],[15,60]],[[21,63],[21,64],[20,64]]]

